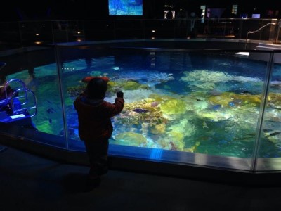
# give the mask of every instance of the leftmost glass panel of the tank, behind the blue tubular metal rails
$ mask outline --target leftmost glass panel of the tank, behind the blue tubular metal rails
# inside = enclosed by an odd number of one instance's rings
[[[53,49],[38,48],[0,58],[6,63],[1,74],[6,77],[6,82],[12,80],[9,85],[14,91],[18,90],[14,94],[14,100],[7,101],[8,106],[15,104],[13,113],[7,112],[7,106],[1,106],[1,122],[6,124],[1,125],[1,129],[15,136],[65,148],[62,104],[54,55]],[[19,80],[20,86],[13,79]],[[18,96],[20,99],[17,99]],[[33,106],[37,108],[32,108]],[[34,109],[37,109],[37,113]],[[5,131],[7,127],[8,131]]]

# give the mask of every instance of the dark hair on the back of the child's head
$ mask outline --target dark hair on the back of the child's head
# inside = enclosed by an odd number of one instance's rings
[[[107,82],[101,78],[93,78],[86,87],[86,94],[89,98],[103,99],[107,91]]]

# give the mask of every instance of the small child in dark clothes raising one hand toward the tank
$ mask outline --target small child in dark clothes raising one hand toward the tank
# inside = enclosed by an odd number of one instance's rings
[[[74,101],[78,113],[79,137],[84,141],[89,156],[90,171],[87,179],[89,190],[100,184],[100,175],[106,174],[108,139],[113,132],[111,117],[124,107],[124,94],[117,91],[115,103],[104,100],[108,78],[93,77],[86,90]]]

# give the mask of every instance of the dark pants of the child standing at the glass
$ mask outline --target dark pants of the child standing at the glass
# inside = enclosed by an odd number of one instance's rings
[[[108,170],[108,139],[84,141],[90,161],[90,177],[105,174]]]

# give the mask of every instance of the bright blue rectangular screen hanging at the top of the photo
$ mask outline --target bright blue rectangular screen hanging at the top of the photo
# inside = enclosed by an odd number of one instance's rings
[[[110,15],[143,15],[143,0],[108,0]]]

